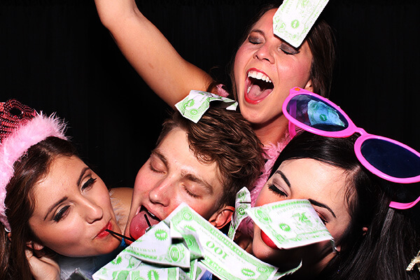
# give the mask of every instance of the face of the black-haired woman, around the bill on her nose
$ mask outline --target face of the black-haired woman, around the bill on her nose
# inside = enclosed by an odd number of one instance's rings
[[[337,240],[351,221],[345,193],[346,174],[342,169],[311,159],[286,160],[262,188],[255,206],[281,200],[309,200]],[[276,248],[256,225],[252,248],[255,257],[283,270],[292,269],[304,260],[300,274],[321,271],[335,255],[329,241],[288,250]]]

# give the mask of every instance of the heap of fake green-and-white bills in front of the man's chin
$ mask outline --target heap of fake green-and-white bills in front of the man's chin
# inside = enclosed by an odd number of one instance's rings
[[[99,269],[93,279],[200,279],[205,269],[229,280],[274,279],[277,270],[181,204]]]

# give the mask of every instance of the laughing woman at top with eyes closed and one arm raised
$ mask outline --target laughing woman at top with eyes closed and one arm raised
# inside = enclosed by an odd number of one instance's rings
[[[288,141],[288,121],[281,104],[299,86],[328,95],[335,61],[332,30],[317,20],[299,48],[273,34],[272,18],[281,1],[260,10],[239,42],[232,59],[232,92],[183,59],[165,36],[141,14],[134,0],[95,0],[102,23],[120,50],[151,89],[174,106],[190,90],[233,94],[241,114],[265,145],[265,172],[255,183],[253,202],[281,148]],[[171,88],[171,93],[167,88]]]

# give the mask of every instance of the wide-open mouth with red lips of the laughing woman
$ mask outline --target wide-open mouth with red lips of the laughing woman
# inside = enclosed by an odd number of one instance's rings
[[[260,71],[250,70],[246,77],[245,100],[251,104],[261,102],[265,97],[272,93],[274,85],[269,76]]]

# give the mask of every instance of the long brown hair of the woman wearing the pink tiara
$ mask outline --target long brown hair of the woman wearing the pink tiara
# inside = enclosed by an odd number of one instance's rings
[[[66,140],[56,137],[31,146],[15,162],[15,174],[6,186],[6,216],[10,223],[11,238],[1,230],[0,279],[32,279],[25,249],[28,242],[38,241],[29,228],[29,218],[34,213],[33,186],[48,174],[52,160],[57,156],[76,155],[76,149]],[[34,251],[34,255],[42,252]]]

